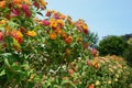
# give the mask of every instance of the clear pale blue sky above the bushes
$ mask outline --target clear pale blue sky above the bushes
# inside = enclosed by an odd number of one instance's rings
[[[132,0],[46,0],[47,9],[84,19],[99,38],[132,33]]]

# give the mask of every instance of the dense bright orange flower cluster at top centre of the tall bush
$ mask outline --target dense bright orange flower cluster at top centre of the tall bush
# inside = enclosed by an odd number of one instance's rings
[[[52,16],[50,21],[43,20],[43,24],[45,26],[50,25],[50,28],[53,30],[53,33],[50,34],[50,38],[55,40],[57,37],[57,34],[59,34],[67,44],[70,44],[73,41],[72,35],[66,34],[63,30],[66,16],[56,11],[47,11],[46,16]]]

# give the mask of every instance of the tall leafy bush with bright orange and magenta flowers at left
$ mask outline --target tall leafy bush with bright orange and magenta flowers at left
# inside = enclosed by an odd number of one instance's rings
[[[46,4],[44,0],[0,1],[1,87],[30,87],[36,73],[48,74],[88,56],[87,24],[56,11],[43,15]]]

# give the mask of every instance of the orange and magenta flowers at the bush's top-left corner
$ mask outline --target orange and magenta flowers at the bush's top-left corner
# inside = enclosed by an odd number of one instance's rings
[[[44,0],[0,0],[0,9],[3,10],[7,10],[6,8],[9,9],[8,11],[9,14],[7,15],[3,14],[3,16],[6,16],[7,19],[23,15],[23,12],[28,18],[30,18],[32,15],[32,9],[30,7],[34,6],[37,8],[35,3],[37,3],[38,9],[45,9],[47,4],[47,2],[45,2]]]

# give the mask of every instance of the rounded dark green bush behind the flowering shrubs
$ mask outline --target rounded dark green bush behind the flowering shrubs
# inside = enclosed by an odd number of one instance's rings
[[[98,50],[100,55],[120,55],[128,47],[127,42],[120,36],[106,36],[99,43]]]

